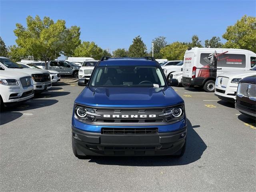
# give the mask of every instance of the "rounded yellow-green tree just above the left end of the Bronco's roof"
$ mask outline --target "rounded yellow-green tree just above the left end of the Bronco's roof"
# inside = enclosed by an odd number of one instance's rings
[[[92,57],[99,60],[103,50],[94,42],[84,41],[74,50],[74,57]]]

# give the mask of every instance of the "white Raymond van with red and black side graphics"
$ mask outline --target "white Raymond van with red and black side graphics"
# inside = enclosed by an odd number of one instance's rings
[[[210,54],[218,56],[217,66],[210,62]],[[189,48],[184,55],[182,85],[202,87],[214,92],[216,77],[222,73],[250,70],[256,54],[243,49]]]

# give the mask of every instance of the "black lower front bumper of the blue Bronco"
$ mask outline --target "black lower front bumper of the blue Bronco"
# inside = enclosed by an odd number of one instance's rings
[[[172,155],[184,146],[186,131],[187,126],[177,131],[158,134],[108,135],[87,132],[72,126],[72,142],[78,155]],[[78,136],[75,137],[74,134]]]

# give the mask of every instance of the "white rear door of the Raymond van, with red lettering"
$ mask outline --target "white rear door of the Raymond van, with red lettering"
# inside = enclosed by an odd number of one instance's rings
[[[194,52],[192,50],[186,51],[184,56],[184,64],[183,64],[183,77],[189,77],[192,78],[192,68],[194,64]]]

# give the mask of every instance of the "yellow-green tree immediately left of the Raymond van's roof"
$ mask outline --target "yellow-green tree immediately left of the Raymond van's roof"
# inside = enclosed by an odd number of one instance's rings
[[[183,60],[188,44],[182,42],[174,42],[160,50],[163,58],[168,60]]]

